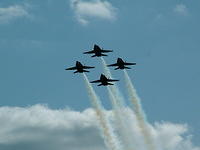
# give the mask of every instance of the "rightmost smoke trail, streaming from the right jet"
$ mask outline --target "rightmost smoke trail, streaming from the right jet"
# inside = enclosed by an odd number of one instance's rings
[[[153,141],[150,129],[148,128],[148,122],[146,120],[146,116],[144,111],[142,110],[142,106],[140,103],[140,98],[137,95],[137,92],[131,82],[131,79],[128,75],[128,73],[124,70],[126,85],[128,88],[128,93],[130,96],[130,101],[134,105],[134,112],[136,115],[136,119],[138,121],[139,128],[141,129],[141,133],[144,136],[144,141],[146,145],[148,146],[149,150],[155,150],[155,143]]]

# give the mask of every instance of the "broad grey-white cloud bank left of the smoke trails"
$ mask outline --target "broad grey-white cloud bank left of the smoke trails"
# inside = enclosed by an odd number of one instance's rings
[[[104,150],[94,112],[35,105],[0,108],[1,150]]]

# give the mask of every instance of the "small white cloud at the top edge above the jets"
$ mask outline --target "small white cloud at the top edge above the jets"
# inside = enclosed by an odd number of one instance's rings
[[[88,24],[91,19],[116,19],[116,8],[108,1],[102,0],[71,0],[71,8],[81,24]]]

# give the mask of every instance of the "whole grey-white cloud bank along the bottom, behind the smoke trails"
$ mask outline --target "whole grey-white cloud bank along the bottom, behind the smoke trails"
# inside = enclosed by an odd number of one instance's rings
[[[127,127],[132,125],[130,133],[134,132],[133,149],[145,150],[134,115],[130,110],[127,113],[130,117]],[[111,111],[106,111],[106,114],[115,126]],[[192,144],[186,125],[163,122],[154,126],[149,124],[149,127],[158,150],[200,150]],[[106,147],[92,109],[77,112],[34,105],[0,107],[0,149],[105,150]]]

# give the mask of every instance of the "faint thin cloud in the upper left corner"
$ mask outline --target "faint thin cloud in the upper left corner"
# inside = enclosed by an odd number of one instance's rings
[[[7,8],[0,8],[0,24],[8,23],[22,17],[29,17],[29,13],[25,6],[13,5]]]

